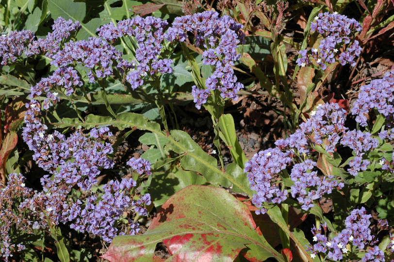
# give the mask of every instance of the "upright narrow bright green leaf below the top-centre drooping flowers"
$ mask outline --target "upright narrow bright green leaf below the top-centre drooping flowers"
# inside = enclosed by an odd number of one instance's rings
[[[244,151],[239,144],[237,134],[235,133],[234,119],[232,115],[226,114],[219,118],[219,135],[227,147],[230,148],[230,153],[234,162],[237,163],[242,169],[245,168],[247,158]]]

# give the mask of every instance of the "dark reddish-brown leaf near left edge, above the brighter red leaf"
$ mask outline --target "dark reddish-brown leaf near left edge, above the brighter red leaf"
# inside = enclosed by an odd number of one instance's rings
[[[16,98],[5,108],[4,133],[8,130],[16,131],[16,128],[23,122],[27,100],[24,98]]]

